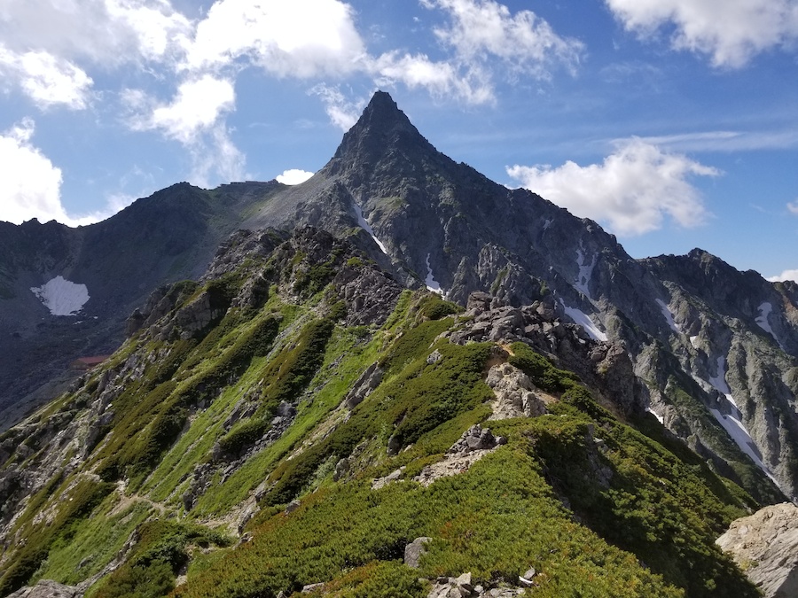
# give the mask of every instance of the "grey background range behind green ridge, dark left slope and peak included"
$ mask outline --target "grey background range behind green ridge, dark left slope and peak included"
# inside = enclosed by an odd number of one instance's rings
[[[700,250],[632,260],[595,222],[436,151],[383,92],[301,185],[177,185],[87,229],[13,229],[0,266],[5,402],[19,413],[32,386],[115,346],[123,317],[156,286],[198,276],[227,231],[308,225],[408,288],[461,305],[472,291],[539,300],[591,338],[622,341],[671,431],[757,498],[776,500],[774,484],[798,495],[798,285]],[[86,284],[78,317],[49,315],[31,292],[56,276]]]

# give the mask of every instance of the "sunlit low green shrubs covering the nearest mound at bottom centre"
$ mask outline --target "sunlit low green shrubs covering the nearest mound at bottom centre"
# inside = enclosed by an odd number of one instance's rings
[[[432,537],[421,569],[396,559],[405,544]],[[536,462],[509,448],[465,474],[423,488],[368,482],[309,494],[300,509],[254,529],[254,540],[211,564],[179,596],[287,594],[331,579],[333,595],[426,595],[419,577],[472,571],[476,581],[517,579],[536,567],[544,596],[679,596],[677,588],[576,524]],[[348,572],[345,572],[348,571]],[[374,575],[369,575],[373,572]]]

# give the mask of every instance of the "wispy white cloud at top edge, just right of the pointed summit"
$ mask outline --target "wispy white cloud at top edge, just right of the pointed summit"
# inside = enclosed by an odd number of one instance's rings
[[[450,27],[434,29],[442,43],[456,50],[466,64],[489,56],[501,58],[512,71],[548,76],[548,66],[560,62],[573,67],[583,43],[557,35],[534,12],[514,15],[494,0],[420,0],[426,8],[449,12]]]

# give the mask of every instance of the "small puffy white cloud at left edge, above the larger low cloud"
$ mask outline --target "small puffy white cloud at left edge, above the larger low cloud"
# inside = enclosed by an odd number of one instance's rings
[[[40,108],[64,105],[81,110],[88,105],[91,77],[64,58],[49,52],[14,52],[0,44],[0,75],[13,81]]]

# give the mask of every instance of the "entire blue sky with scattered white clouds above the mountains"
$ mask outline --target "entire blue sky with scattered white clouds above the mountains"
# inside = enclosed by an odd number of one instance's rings
[[[4,0],[0,219],[292,182],[375,89],[633,257],[798,278],[798,0]]]

